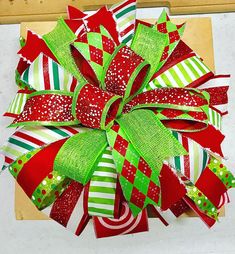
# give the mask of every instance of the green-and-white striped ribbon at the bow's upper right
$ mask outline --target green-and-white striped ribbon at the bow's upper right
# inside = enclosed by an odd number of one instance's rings
[[[207,73],[210,73],[209,68],[197,56],[191,56],[155,77],[144,91],[160,87],[185,87]]]

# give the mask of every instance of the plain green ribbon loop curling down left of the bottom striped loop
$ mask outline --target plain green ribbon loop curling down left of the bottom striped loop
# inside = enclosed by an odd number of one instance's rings
[[[104,131],[78,133],[61,147],[54,161],[54,170],[85,185],[107,146]]]

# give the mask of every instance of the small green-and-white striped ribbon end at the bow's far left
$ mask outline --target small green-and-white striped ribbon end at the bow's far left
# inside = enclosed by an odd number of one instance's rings
[[[8,107],[6,113],[19,115],[24,109],[27,98],[28,94],[18,92],[13,101],[11,102],[10,106]]]

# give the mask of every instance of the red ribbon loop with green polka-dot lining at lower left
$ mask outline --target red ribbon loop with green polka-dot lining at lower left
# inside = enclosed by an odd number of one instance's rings
[[[53,162],[67,138],[19,157],[10,173],[34,205],[42,210],[52,204],[70,183],[65,175],[53,171]]]

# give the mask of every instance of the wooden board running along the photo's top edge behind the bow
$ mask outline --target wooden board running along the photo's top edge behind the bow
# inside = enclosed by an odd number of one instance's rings
[[[96,10],[121,0],[0,0],[0,24],[66,17],[66,6]],[[235,0],[138,0],[138,7],[168,7],[171,14],[235,11]]]

